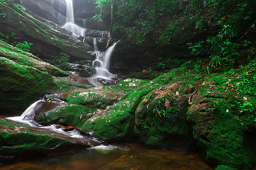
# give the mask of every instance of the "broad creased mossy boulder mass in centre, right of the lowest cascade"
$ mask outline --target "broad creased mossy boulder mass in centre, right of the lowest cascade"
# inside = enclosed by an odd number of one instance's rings
[[[116,103],[127,92],[134,91],[146,82],[140,79],[125,79],[111,86],[48,95],[46,96],[49,99],[47,105],[55,103],[56,98],[66,100],[69,104],[58,104],[48,111],[44,110],[42,114],[38,113],[36,121],[40,124],[76,126],[83,133],[104,141],[132,139],[134,137],[134,111],[142,96],[138,95],[138,99],[128,97],[129,100],[137,100],[133,113],[125,108],[119,109]]]

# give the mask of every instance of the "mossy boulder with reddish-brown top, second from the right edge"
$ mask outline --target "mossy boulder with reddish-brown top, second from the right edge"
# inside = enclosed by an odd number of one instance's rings
[[[180,150],[194,149],[187,122],[189,82],[175,82],[144,96],[135,112],[135,134],[146,145]],[[193,83],[192,83],[193,84]]]

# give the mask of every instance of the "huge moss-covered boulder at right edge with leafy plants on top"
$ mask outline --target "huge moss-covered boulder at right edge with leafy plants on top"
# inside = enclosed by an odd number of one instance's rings
[[[198,88],[187,112],[205,159],[233,168],[256,165],[255,68],[213,75]]]

